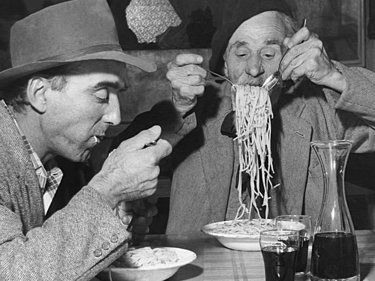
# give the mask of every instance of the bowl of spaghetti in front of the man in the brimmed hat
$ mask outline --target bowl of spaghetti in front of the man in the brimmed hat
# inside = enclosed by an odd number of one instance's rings
[[[174,247],[131,247],[99,275],[103,281],[164,281],[196,259]]]

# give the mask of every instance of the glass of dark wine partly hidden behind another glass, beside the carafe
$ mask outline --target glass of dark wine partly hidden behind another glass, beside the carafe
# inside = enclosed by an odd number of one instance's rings
[[[307,256],[309,242],[312,235],[311,216],[307,215],[283,215],[276,217],[276,229],[293,229],[299,231],[299,250],[297,256],[297,266],[295,274],[305,275],[308,271]]]

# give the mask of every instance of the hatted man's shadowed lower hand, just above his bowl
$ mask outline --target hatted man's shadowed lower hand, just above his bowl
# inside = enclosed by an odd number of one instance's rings
[[[123,201],[116,207],[117,216],[124,224],[128,225],[129,240],[133,245],[139,244],[144,240],[145,235],[149,232],[152,217],[157,212],[155,205],[143,199]]]

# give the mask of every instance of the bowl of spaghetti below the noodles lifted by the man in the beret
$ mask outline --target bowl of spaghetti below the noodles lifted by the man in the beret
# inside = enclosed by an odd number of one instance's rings
[[[260,251],[262,230],[274,228],[274,220],[233,220],[206,224],[202,232],[214,236],[223,246],[239,251]]]

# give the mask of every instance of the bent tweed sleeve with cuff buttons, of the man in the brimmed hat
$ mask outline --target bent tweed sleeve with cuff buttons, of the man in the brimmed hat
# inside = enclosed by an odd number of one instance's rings
[[[27,233],[20,215],[0,203],[1,280],[90,280],[127,246],[126,225],[89,186]]]

